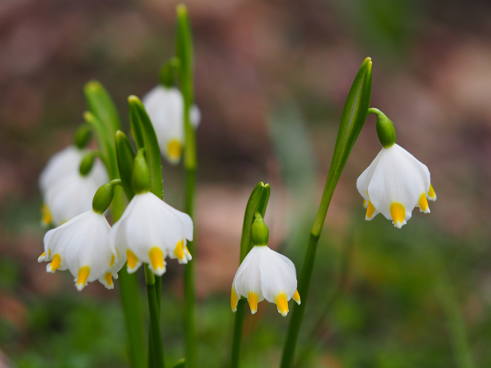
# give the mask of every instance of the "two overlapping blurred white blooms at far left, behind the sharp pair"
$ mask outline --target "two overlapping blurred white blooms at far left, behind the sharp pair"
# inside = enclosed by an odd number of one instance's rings
[[[84,161],[83,174],[81,163]],[[91,209],[97,188],[108,181],[106,168],[94,154],[68,147],[56,154],[41,173],[44,197],[42,223],[56,226]]]

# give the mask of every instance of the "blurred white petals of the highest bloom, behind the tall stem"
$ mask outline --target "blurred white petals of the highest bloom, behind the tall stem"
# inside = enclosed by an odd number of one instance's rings
[[[143,97],[143,105],[155,129],[160,151],[171,163],[177,163],[184,146],[184,100],[175,87],[159,84]],[[201,114],[196,105],[190,109],[191,124],[199,125]]]

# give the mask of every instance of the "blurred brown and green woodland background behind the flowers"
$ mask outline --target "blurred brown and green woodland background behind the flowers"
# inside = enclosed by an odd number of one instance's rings
[[[380,150],[369,116],[322,234],[297,368],[491,367],[491,3],[412,0],[187,2],[196,58],[200,367],[226,367],[247,197],[272,194],[270,246],[300,272],[342,107],[366,56],[373,107],[425,163],[438,200],[401,230],[364,221],[355,180]],[[0,367],[127,367],[118,286],[82,292],[47,274],[37,179],[68,145],[99,79],[128,126],[172,55],[173,1],[0,2]],[[182,167],[164,163],[181,208]],[[164,275],[167,363],[183,356],[182,267]],[[139,273],[143,277],[143,272]],[[143,286],[143,279],[140,280]],[[143,291],[143,288],[142,288]],[[146,303],[146,297],[142,292]],[[277,367],[287,323],[247,312],[243,367]]]

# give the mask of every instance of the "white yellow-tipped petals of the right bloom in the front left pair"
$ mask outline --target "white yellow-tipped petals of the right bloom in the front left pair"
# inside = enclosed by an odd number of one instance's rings
[[[142,262],[161,276],[168,256],[188,263],[191,254],[186,246],[192,241],[191,217],[169,206],[149,191],[135,194],[121,218],[113,225],[110,245],[114,253],[126,257],[128,272],[135,272]]]

